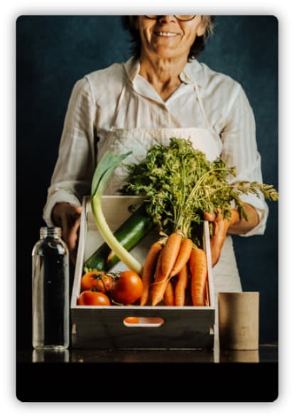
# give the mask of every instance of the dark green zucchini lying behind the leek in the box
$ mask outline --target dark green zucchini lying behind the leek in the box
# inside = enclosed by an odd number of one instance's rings
[[[153,220],[146,213],[145,205],[139,206],[134,213],[114,232],[114,236],[126,250],[131,250],[148,235],[155,227]],[[85,260],[84,270],[109,271],[119,263],[116,255],[111,255],[111,249],[107,243],[102,243],[97,250]]]

